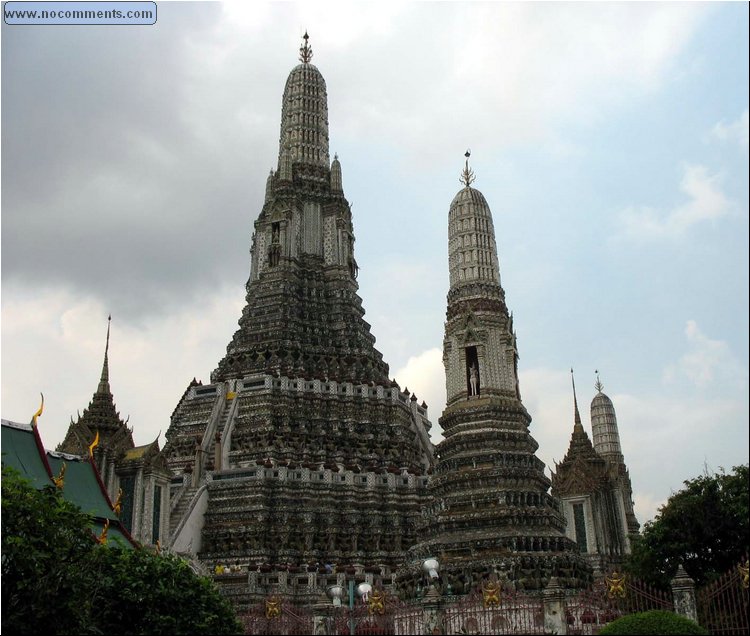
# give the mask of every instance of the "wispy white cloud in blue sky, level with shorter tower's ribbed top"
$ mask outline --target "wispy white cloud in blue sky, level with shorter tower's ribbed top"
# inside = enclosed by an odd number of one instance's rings
[[[706,221],[729,213],[731,204],[720,189],[720,175],[711,175],[701,165],[686,165],[680,191],[689,200],[671,210],[629,207],[620,215],[625,236],[636,239],[676,238]]]

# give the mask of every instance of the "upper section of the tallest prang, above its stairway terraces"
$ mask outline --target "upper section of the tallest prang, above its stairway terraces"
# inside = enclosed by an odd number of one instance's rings
[[[329,167],[328,97],[305,40],[281,110],[279,161],[251,248],[247,306],[213,382],[252,373],[388,383],[357,295],[352,213]]]

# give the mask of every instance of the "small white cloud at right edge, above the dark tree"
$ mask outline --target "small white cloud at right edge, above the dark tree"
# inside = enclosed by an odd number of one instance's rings
[[[747,387],[747,368],[732,354],[729,345],[723,340],[712,340],[698,327],[694,320],[685,325],[688,351],[676,363],[667,365],[663,379],[675,383],[687,379],[699,389],[714,384]]]

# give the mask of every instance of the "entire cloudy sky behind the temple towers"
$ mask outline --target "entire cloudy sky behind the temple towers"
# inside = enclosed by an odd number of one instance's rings
[[[159,3],[155,26],[2,26],[2,416],[46,444],[110,378],[136,443],[244,305],[307,29],[360,295],[402,387],[445,401],[463,154],[494,216],[539,456],[599,370],[641,522],[748,461],[747,3]],[[437,425],[435,426],[437,429]]]

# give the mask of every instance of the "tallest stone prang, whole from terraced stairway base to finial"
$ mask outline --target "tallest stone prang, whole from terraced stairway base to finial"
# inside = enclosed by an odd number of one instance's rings
[[[239,329],[211,383],[186,389],[165,447],[172,545],[230,572],[217,580],[240,607],[271,590],[312,602],[344,576],[387,582],[417,540],[433,464],[426,405],[389,379],[363,318],[311,58],[305,34]]]

